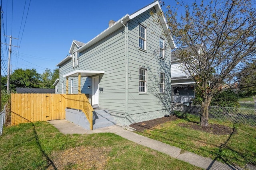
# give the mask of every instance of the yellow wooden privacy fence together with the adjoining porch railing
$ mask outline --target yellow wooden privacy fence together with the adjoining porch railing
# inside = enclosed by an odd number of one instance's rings
[[[82,110],[92,130],[93,108],[85,94],[12,94],[12,125],[65,119],[66,107]]]

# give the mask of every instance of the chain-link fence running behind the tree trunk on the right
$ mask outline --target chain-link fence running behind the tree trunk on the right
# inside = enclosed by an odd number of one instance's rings
[[[174,110],[196,117],[201,116],[201,106],[198,105],[176,105],[174,106]],[[209,106],[208,118],[217,121],[244,123],[250,126],[256,126],[256,109]]]

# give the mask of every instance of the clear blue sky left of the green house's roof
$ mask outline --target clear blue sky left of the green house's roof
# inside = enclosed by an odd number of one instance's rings
[[[53,70],[68,55],[73,39],[86,43],[104,31],[108,21],[117,21],[151,2],[2,0],[2,43],[9,44],[10,38],[4,34],[12,35],[18,38],[12,39],[12,45],[20,46],[12,47],[12,70],[35,68],[38,73],[46,68]],[[3,76],[7,75],[8,48],[9,45],[2,44]]]

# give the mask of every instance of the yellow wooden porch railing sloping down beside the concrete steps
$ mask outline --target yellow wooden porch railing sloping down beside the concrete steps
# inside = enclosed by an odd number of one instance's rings
[[[82,110],[90,123],[90,129],[93,129],[92,119],[94,109],[85,94],[67,94],[67,107]]]

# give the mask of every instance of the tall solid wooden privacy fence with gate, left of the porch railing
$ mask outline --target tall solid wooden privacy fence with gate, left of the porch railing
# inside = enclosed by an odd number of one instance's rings
[[[12,125],[65,119],[66,94],[12,94]]]

